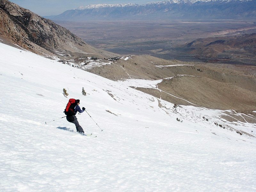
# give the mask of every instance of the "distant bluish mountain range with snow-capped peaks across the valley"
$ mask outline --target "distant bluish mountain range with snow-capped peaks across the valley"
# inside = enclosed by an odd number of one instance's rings
[[[255,19],[256,0],[169,0],[139,4],[80,6],[51,20],[178,20]]]

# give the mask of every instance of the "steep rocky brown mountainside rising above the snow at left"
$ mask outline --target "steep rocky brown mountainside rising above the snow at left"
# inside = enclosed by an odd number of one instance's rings
[[[0,0],[0,38],[41,55],[113,57],[86,44],[51,20],[7,0]]]

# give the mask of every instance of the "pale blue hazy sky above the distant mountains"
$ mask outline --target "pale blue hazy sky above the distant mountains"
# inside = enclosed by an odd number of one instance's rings
[[[40,16],[58,15],[70,9],[91,4],[145,4],[163,0],[10,0]]]

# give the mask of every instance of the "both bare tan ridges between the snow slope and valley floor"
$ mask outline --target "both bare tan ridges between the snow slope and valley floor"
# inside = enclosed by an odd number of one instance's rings
[[[215,66],[151,56],[131,56],[128,60],[117,60],[111,65],[90,68],[88,71],[112,80],[157,80],[174,76],[158,84],[158,88],[166,93],[156,89],[136,89],[175,104],[194,103],[206,108],[248,112],[256,110],[256,66],[247,67],[244,66],[243,71],[241,65],[236,68],[236,65],[228,64]]]

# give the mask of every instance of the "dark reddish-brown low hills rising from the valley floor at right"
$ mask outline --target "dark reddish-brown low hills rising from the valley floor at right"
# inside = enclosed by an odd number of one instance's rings
[[[256,33],[201,38],[186,46],[191,48],[190,54],[201,59],[255,65]]]

